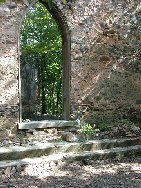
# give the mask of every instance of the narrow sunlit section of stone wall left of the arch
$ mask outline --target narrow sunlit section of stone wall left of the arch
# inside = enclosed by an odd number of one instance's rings
[[[19,118],[18,34],[24,4],[0,4],[0,125],[13,126]],[[9,119],[9,120],[8,120]]]

